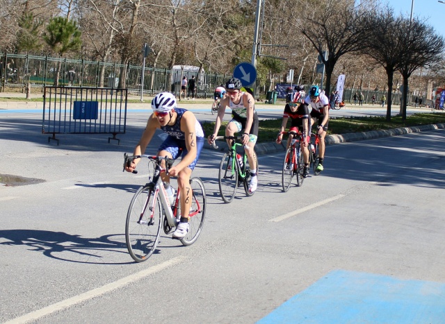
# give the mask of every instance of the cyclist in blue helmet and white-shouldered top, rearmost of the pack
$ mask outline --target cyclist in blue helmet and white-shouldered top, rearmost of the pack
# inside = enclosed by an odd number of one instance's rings
[[[317,121],[317,134],[320,137],[318,144],[320,161],[317,171],[323,171],[323,158],[325,156],[325,136],[327,126],[329,124],[329,99],[325,94],[321,93],[318,86],[314,85],[309,89],[309,96],[306,97],[305,103],[312,107],[311,118],[314,125]]]

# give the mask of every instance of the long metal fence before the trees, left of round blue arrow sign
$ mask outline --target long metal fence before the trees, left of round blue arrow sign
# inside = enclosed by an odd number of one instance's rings
[[[118,63],[70,60],[50,56],[0,53],[1,91],[6,87],[24,88],[49,85],[67,87],[123,88],[140,94],[142,66]],[[197,73],[196,71],[144,69],[143,93],[170,91],[179,95],[182,76],[197,79],[197,96],[210,97],[229,75]]]

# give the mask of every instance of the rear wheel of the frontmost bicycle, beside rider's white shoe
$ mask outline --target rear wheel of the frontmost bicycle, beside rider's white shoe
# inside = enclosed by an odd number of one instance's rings
[[[200,178],[192,178],[190,182],[193,198],[190,214],[188,214],[188,233],[181,239],[181,243],[184,246],[189,246],[195,243],[197,237],[200,236],[207,209],[207,197],[204,183],[202,183]]]

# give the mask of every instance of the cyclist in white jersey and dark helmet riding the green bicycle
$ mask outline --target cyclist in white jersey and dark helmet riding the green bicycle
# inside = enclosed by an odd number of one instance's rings
[[[215,121],[215,128],[213,134],[209,136],[207,141],[209,144],[218,135],[218,130],[221,126],[221,121],[225,114],[225,108],[228,106],[232,109],[232,120],[229,121],[225,128],[226,136],[234,136],[235,133],[243,131],[241,142],[244,144],[245,154],[248,156],[249,164],[251,166],[257,165],[257,155],[254,153],[254,146],[258,138],[258,114],[255,111],[255,100],[252,94],[248,92],[241,92],[241,81],[237,78],[227,80],[225,88],[227,96],[221,99],[220,109]],[[250,169],[250,183],[249,191],[257,190],[258,177],[257,169]]]

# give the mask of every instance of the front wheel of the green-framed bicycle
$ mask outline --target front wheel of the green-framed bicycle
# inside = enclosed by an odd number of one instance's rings
[[[230,203],[236,194],[238,188],[238,170],[234,163],[232,151],[227,152],[221,159],[220,170],[218,172],[218,185],[220,194],[225,203]]]

